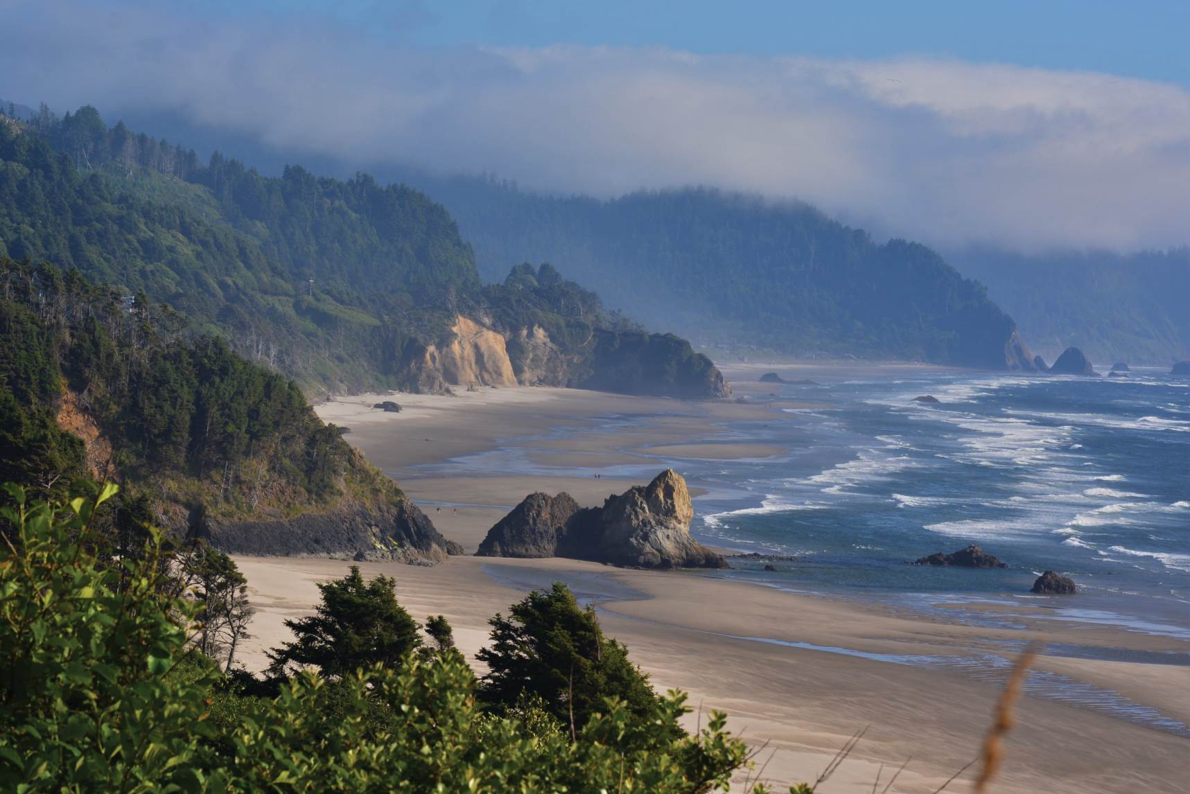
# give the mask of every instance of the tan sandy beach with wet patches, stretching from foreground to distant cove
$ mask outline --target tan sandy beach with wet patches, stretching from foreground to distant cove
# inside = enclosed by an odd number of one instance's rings
[[[534,490],[565,490],[580,504],[644,483],[683,459],[738,461],[782,455],[778,445],[740,444],[725,429],[771,414],[751,395],[775,369],[787,380],[847,377],[851,365],[740,364],[726,369],[743,402],[685,402],[550,388],[507,388],[458,395],[359,395],[317,406],[326,421],[350,427],[347,440],[395,477],[447,538],[470,554],[487,530]],[[854,365],[871,376],[872,368]],[[879,368],[896,376],[920,367]],[[371,408],[395,400],[400,413]],[[495,457],[493,457],[495,456]],[[522,470],[480,476],[513,456]],[[513,459],[511,457],[511,459]],[[450,462],[449,476],[443,464]],[[591,470],[606,470],[595,479]],[[470,474],[474,471],[474,474]],[[628,473],[628,474],[625,474]],[[350,563],[327,559],[237,558],[258,609],[243,650],[250,669],[263,650],[288,638],[286,618],[308,614],[315,583]],[[998,698],[994,680],[945,664],[894,663],[894,657],[964,658],[972,652],[1014,658],[1022,640],[1188,650],[1184,639],[1123,627],[1054,620],[1045,604],[1013,605],[1017,629],[960,619],[992,604],[935,604],[927,612],[878,601],[795,593],[704,573],[625,570],[570,559],[455,557],[432,567],[363,563],[365,575],[397,581],[397,595],[419,620],[445,614],[474,662],[487,621],[555,579],[596,600],[607,633],[627,643],[659,690],[690,693],[703,713],[731,714],[729,726],[756,746],[777,790],[818,777],[834,751],[868,729],[851,758],[819,790],[870,792],[908,764],[892,792],[934,792],[976,757]],[[951,617],[951,615],[954,617]],[[1110,689],[1140,706],[1190,720],[1190,668],[1175,664],[1039,657],[1040,670]],[[482,673],[482,668],[477,665]],[[1023,698],[1006,743],[1003,792],[1184,790],[1190,739],[1040,698]],[[691,715],[691,726],[696,715]],[[947,790],[970,790],[969,770]]]

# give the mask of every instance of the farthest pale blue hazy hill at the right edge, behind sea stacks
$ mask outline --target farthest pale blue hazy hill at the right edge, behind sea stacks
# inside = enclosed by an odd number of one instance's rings
[[[971,249],[950,258],[988,285],[1051,364],[1071,346],[1107,365],[1190,358],[1190,248],[1128,256]]]

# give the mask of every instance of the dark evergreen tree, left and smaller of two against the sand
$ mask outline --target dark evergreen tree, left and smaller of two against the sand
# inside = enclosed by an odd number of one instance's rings
[[[359,565],[344,579],[319,582],[322,602],[315,613],[286,620],[298,640],[269,655],[273,674],[317,665],[322,675],[339,679],[375,664],[397,667],[421,645],[421,636],[418,621],[396,602],[395,587],[387,576],[365,583]]]

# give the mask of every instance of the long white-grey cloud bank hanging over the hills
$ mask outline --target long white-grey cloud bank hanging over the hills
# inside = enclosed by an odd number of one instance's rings
[[[0,90],[614,195],[796,196],[940,245],[1186,242],[1190,94],[1091,73],[663,48],[418,49],[315,17],[0,0]]]

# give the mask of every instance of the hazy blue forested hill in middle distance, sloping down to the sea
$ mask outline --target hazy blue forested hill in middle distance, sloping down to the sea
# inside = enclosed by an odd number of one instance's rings
[[[923,245],[878,245],[807,205],[706,188],[597,201],[471,177],[424,186],[486,279],[526,258],[565,263],[610,304],[696,344],[1008,365],[1015,325],[981,285]]]

